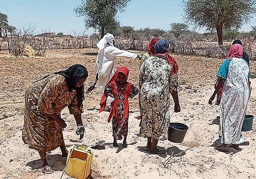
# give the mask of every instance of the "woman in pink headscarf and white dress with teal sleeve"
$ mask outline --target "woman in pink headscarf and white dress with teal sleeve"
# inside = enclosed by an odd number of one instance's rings
[[[243,48],[240,44],[231,46],[228,55],[217,73],[218,85],[209,99],[212,101],[223,85],[220,100],[220,150],[233,147],[240,150],[243,143],[242,124],[249,99],[249,66],[242,58]]]

